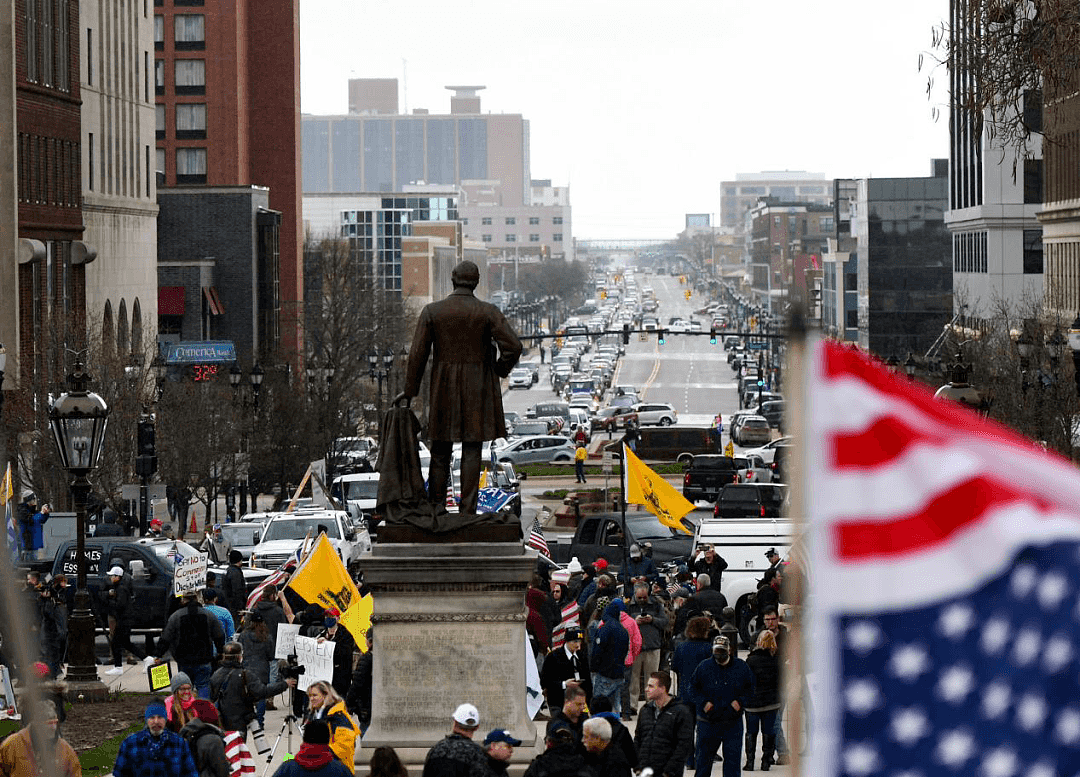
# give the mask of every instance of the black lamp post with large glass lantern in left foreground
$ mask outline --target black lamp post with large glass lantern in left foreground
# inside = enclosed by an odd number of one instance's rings
[[[105,400],[86,390],[90,375],[77,362],[68,376],[68,391],[60,394],[49,410],[49,421],[56,441],[60,466],[71,473],[71,495],[75,499],[78,558],[78,582],[75,612],[68,620],[68,685],[73,698],[87,701],[104,700],[105,684],[97,679],[94,660],[94,616],[90,609],[90,591],[86,590],[86,497],[90,481],[86,475],[102,458],[109,407]]]

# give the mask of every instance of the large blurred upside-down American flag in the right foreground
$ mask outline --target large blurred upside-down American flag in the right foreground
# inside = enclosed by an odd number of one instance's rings
[[[1078,774],[1076,468],[837,344],[806,378],[804,774]]]

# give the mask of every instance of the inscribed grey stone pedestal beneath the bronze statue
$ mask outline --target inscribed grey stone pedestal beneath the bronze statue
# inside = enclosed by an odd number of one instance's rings
[[[372,725],[357,764],[392,747],[418,768],[462,702],[480,711],[477,743],[505,728],[522,740],[514,760],[527,763],[538,742],[525,681],[525,591],[536,553],[521,539],[379,542],[361,566],[375,613]]]

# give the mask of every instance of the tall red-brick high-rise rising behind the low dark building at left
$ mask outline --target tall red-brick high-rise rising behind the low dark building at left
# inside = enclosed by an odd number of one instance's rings
[[[299,2],[156,0],[153,22],[159,183],[268,188],[267,210],[281,214],[280,286],[258,316],[295,310],[303,298]],[[256,334],[271,340],[240,357],[299,353],[301,321],[260,322]]]

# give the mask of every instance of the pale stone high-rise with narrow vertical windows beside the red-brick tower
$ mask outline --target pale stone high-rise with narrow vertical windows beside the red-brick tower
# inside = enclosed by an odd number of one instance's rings
[[[149,359],[158,324],[153,15],[148,3],[81,0],[86,316],[122,358]],[[132,78],[131,73],[137,73]]]

